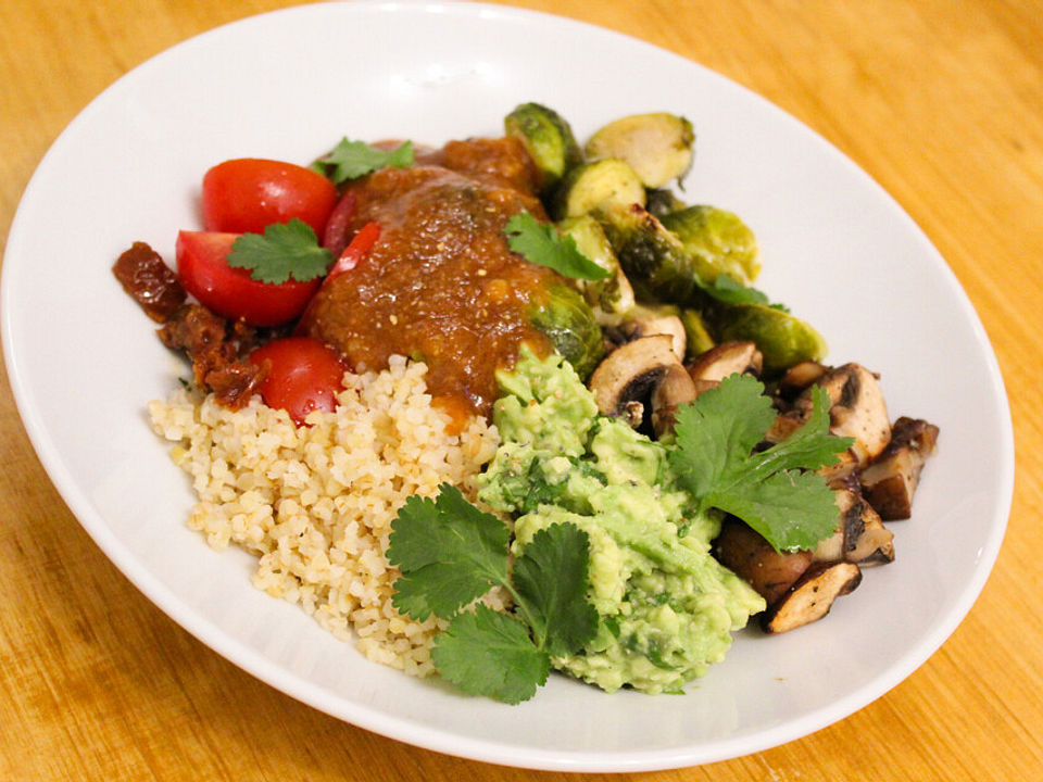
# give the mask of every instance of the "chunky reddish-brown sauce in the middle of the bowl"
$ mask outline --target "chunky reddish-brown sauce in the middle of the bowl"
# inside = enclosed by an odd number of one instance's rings
[[[392,354],[423,360],[430,392],[454,417],[488,415],[495,370],[514,364],[520,344],[550,351],[528,312],[557,275],[512,253],[503,236],[512,215],[542,216],[535,187],[513,139],[451,142],[353,185],[352,230],[376,222],[380,237],[327,280],[303,330],[356,370],[382,369]]]

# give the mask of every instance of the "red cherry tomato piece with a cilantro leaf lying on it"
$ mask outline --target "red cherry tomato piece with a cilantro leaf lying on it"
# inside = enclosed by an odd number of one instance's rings
[[[300,315],[322,282],[290,279],[280,285],[261,282],[249,269],[225,262],[238,234],[179,231],[177,276],[189,293],[206,308],[251,326],[278,326]]]

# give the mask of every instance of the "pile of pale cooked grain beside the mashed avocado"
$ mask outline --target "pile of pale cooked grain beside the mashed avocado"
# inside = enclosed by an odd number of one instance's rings
[[[431,406],[423,364],[348,374],[335,413],[296,427],[260,398],[238,412],[186,390],[149,407],[199,502],[189,527],[215,548],[259,555],[254,584],[300,603],[327,630],[354,638],[368,658],[414,676],[433,671],[439,623],[403,618],[391,605],[391,522],[411,494],[449,481],[468,496],[495,452],[493,427],[476,418],[460,436]]]

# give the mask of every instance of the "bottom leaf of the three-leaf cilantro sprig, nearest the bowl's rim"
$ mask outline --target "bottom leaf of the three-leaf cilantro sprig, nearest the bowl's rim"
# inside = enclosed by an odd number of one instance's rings
[[[536,647],[525,625],[482,604],[453,618],[431,657],[465,692],[508,704],[532,697],[551,670],[550,655]]]

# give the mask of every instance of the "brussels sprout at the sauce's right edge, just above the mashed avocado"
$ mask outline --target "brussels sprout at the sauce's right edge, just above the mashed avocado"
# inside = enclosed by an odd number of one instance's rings
[[[586,380],[605,354],[593,310],[576,290],[564,283],[551,285],[539,293],[532,301],[529,318],[581,379]]]

